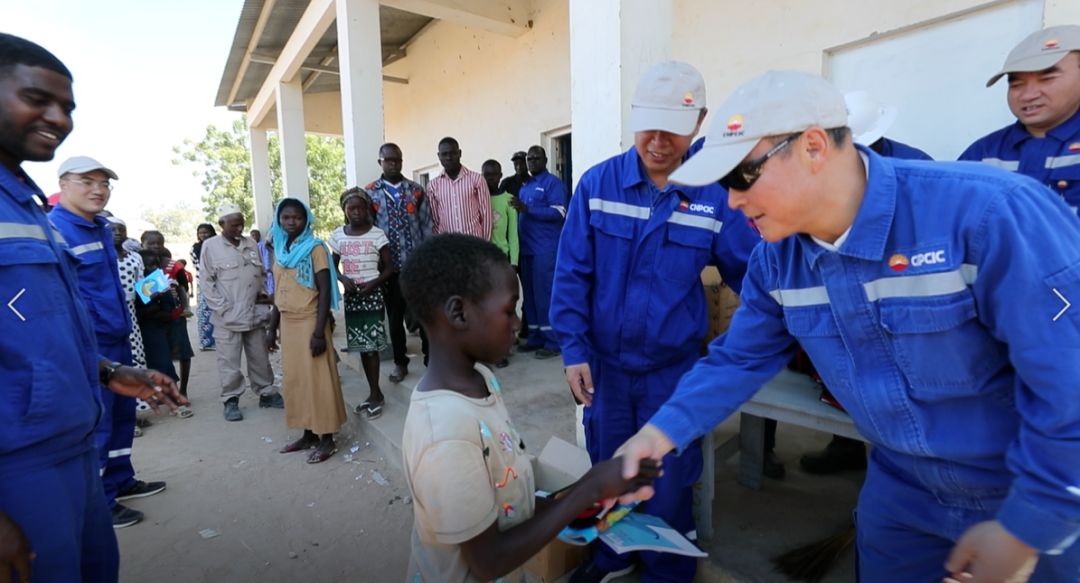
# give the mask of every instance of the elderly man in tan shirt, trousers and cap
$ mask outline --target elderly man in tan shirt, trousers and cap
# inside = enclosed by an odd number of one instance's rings
[[[259,395],[259,407],[283,408],[273,385],[273,369],[266,347],[265,326],[273,300],[262,292],[266,270],[255,241],[244,236],[244,215],[234,204],[218,212],[221,234],[203,242],[199,259],[199,293],[211,309],[217,367],[221,378],[225,420],[241,421],[240,395],[244,376],[240,354],[247,357],[247,380]]]

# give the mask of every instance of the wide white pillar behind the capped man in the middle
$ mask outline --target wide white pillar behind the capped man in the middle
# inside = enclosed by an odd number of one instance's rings
[[[642,74],[671,58],[673,0],[570,0],[573,182],[634,143],[630,101]]]

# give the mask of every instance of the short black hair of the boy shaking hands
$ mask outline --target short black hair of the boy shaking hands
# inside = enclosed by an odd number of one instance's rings
[[[405,303],[421,324],[431,324],[450,296],[480,301],[495,287],[495,266],[507,254],[489,241],[446,233],[424,241],[402,267]]]

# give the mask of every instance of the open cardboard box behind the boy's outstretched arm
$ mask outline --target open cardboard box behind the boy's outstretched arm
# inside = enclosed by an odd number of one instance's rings
[[[573,484],[592,467],[589,452],[558,437],[552,437],[539,458],[532,458],[537,489],[561,490]],[[588,546],[565,543],[558,539],[548,543],[525,564],[525,580],[529,583],[552,583],[583,564]]]

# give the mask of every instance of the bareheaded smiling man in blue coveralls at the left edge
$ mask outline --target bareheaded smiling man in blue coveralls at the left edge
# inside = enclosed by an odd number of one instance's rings
[[[71,73],[0,33],[0,580],[116,582],[117,539],[102,490],[97,385],[156,410],[187,404],[172,379],[102,357],[72,249],[19,167],[71,132]]]

